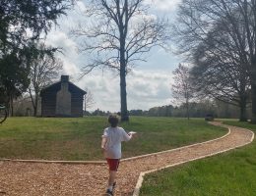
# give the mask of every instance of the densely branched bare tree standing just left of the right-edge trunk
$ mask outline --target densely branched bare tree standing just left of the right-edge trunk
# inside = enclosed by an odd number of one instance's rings
[[[212,29],[193,52],[192,81],[201,96],[239,107],[240,121],[244,122],[247,121],[250,80],[237,51],[229,48],[232,40],[223,32],[223,24],[220,25]]]

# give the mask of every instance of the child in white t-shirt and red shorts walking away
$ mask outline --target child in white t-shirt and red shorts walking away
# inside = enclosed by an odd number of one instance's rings
[[[101,149],[107,161],[109,168],[108,187],[106,194],[113,195],[113,188],[115,186],[116,172],[122,156],[121,142],[129,141],[133,133],[126,133],[122,127],[118,127],[119,118],[117,115],[110,115],[108,117],[110,126],[104,129],[101,141]]]

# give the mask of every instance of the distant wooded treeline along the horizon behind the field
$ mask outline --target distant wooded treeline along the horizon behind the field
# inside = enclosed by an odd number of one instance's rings
[[[29,97],[15,101],[14,108],[14,116],[16,117],[29,117],[33,115],[32,102]],[[239,107],[218,100],[192,102],[189,104],[189,113],[190,118],[205,118],[207,115],[213,115],[214,118],[239,119],[240,115]],[[101,111],[100,109],[90,112],[85,111],[84,113],[85,116],[107,116],[109,114],[109,111]],[[130,110],[128,114],[129,116],[187,118],[187,108],[184,103],[180,106],[166,105],[153,107],[149,110]],[[249,108],[246,115],[250,119]]]

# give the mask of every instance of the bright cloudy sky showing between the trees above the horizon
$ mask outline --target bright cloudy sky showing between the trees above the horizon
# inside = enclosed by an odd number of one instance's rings
[[[180,0],[145,0],[151,5],[150,14],[156,17],[164,16],[170,21],[175,18],[175,11]],[[86,4],[79,1],[75,9],[58,20],[46,38],[46,44],[61,47],[63,54],[57,57],[63,61],[63,71],[60,74],[70,75],[70,80],[82,89],[89,89],[95,104],[89,111],[120,111],[120,81],[119,76],[111,71],[94,70],[80,78],[81,67],[87,61],[85,54],[78,53],[78,44],[70,35],[70,29],[79,21],[83,21],[81,12]],[[127,79],[127,107],[128,110],[149,110],[150,108],[172,104],[171,82],[172,71],[182,62],[171,52],[161,48],[154,48],[146,55],[147,62],[136,66]]]

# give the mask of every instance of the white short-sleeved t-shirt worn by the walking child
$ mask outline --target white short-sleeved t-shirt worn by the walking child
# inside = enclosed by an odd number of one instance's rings
[[[122,157],[121,142],[131,139],[125,130],[118,126],[105,128],[102,137],[107,139],[105,144],[105,158],[108,159],[120,159]]]

